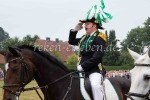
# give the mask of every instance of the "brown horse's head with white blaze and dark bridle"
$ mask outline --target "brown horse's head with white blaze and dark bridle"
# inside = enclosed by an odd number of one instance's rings
[[[34,65],[28,50],[9,47],[6,58],[3,100],[17,100],[23,88],[33,79]]]

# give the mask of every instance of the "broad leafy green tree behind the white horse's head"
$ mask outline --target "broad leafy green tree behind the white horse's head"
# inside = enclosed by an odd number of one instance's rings
[[[150,17],[144,22],[143,27],[136,27],[131,29],[127,34],[126,39],[121,42],[121,56],[120,63],[121,65],[130,65],[133,66],[133,59],[127,51],[127,47],[132,49],[135,52],[143,53],[145,46],[150,45]]]

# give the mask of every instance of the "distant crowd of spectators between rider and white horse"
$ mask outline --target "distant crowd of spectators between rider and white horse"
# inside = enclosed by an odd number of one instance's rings
[[[111,71],[107,71],[106,77],[107,78],[123,77],[123,78],[130,79],[130,74],[129,74],[129,70],[111,70]]]

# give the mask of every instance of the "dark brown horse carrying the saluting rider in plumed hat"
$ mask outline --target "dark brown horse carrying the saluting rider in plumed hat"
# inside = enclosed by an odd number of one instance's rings
[[[33,46],[9,48],[1,53],[6,58],[3,100],[17,100],[24,87],[34,78],[45,100],[82,100],[77,73],[69,71],[55,57]],[[109,80],[118,94],[118,100],[126,100],[130,81],[123,78]],[[105,86],[107,87],[107,86]],[[35,89],[36,90],[36,89]],[[109,100],[109,99],[107,99]],[[112,100],[112,99],[111,99]]]

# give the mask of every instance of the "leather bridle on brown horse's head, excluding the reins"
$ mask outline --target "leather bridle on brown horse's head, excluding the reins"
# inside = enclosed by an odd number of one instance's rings
[[[16,61],[16,60],[20,61],[20,63],[21,63],[21,76],[20,76],[21,83],[18,83],[18,84],[5,84],[5,82],[4,82],[4,85],[3,85],[4,90],[6,90],[6,91],[8,91],[11,94],[14,94],[16,96],[19,96],[21,94],[21,92],[23,91],[23,89],[24,89],[24,86],[25,86],[24,76],[25,76],[25,74],[27,76],[30,74],[30,70],[28,69],[28,65],[24,62],[23,59],[24,59],[23,57],[17,57],[17,58],[14,58],[14,59],[8,61],[8,63]],[[4,78],[4,80],[5,80],[5,78]],[[13,90],[9,89],[10,87],[19,87],[19,90],[18,91],[13,91]]]

